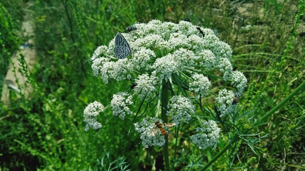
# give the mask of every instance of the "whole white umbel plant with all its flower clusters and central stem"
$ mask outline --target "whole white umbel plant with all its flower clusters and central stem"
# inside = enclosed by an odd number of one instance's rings
[[[136,30],[121,34],[125,38],[122,46],[128,48],[126,58],[116,57],[116,38],[108,46],[98,47],[91,58],[93,74],[105,84],[127,81],[131,85],[114,94],[105,108],[112,108],[121,120],[130,120],[145,148],[164,146],[168,151],[168,130],[175,129],[178,137],[177,130],[185,124],[196,130],[188,140],[198,149],[216,147],[221,130],[233,123],[228,119],[234,120],[238,99],[247,86],[244,74],[233,69],[229,61],[230,46],[211,29],[188,21],[151,20],[133,27]],[[140,99],[137,112],[130,109],[138,104],[133,102],[136,99]],[[207,99],[215,104],[210,105]],[[141,109],[143,104],[156,107],[147,112]],[[105,108],[96,102],[86,107],[86,131],[101,128],[96,118]],[[138,116],[140,110],[146,111],[146,117]],[[169,128],[170,123],[173,128]],[[169,168],[168,153],[164,155]]]

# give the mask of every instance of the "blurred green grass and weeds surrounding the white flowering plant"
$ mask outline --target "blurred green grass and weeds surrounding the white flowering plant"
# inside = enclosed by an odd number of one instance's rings
[[[162,148],[144,149],[136,133],[127,136],[125,121],[110,120],[96,136],[86,133],[82,122],[86,104],[95,100],[108,104],[113,93],[126,89],[124,83],[104,85],[91,74],[87,60],[117,32],[153,18],[172,22],[190,18],[228,42],[232,64],[248,78],[248,91],[240,104],[261,118],[304,81],[305,25],[300,4],[304,1],[1,1],[0,79],[5,77],[10,56],[29,38],[17,34],[22,33],[25,14],[35,24],[37,63],[27,76],[34,87],[30,100],[21,93],[19,99],[12,96],[9,105],[0,103],[0,170],[102,170],[112,161],[122,168],[129,164],[132,170],[163,169]],[[112,113],[108,110],[103,115],[106,122]],[[226,151],[210,170],[304,169],[304,93],[267,120],[253,130],[262,132],[258,137],[268,134],[256,144],[261,155],[239,141],[236,150]],[[247,120],[243,122],[250,129]],[[228,136],[230,132],[224,132],[219,147],[204,154],[179,139],[177,154],[170,150],[172,168],[199,170],[228,144]]]

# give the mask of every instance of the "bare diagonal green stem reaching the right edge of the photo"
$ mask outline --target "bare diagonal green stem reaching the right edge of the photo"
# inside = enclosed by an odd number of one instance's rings
[[[257,125],[259,125],[262,121],[266,120],[271,114],[276,112],[279,108],[281,108],[286,102],[288,102],[290,99],[293,98],[299,91],[303,91],[305,88],[305,81],[299,85],[292,93],[290,93],[282,102],[280,102],[278,105],[273,107],[269,112],[267,112],[261,119],[257,121]]]

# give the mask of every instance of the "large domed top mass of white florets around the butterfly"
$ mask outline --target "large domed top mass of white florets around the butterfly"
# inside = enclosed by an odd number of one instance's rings
[[[203,70],[221,69],[225,79],[232,71],[228,63],[232,56],[229,45],[220,41],[210,29],[202,28],[203,37],[195,25],[186,21],[175,24],[152,20],[136,23],[134,27],[136,31],[122,33],[133,48],[128,60],[115,57],[114,39],[108,47],[100,46],[94,52],[91,58],[93,72],[100,74],[105,83],[111,78],[116,81],[131,79],[133,71],[143,70],[147,73],[156,71],[155,76],[168,80],[172,73],[194,65]]]

